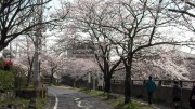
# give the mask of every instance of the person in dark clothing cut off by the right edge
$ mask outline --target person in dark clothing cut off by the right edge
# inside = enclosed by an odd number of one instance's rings
[[[192,109],[195,109],[195,82],[193,82],[193,88],[191,91],[188,100],[190,100],[190,106],[192,107]]]

